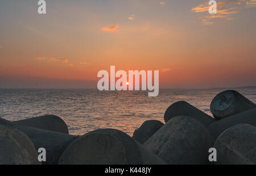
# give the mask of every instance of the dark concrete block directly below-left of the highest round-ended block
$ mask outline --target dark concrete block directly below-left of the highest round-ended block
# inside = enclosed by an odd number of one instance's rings
[[[184,101],[176,102],[169,106],[164,113],[164,121],[167,122],[168,120],[181,115],[195,118],[204,124],[205,127],[208,127],[211,123],[213,123],[213,121],[215,121],[215,119],[211,116]]]

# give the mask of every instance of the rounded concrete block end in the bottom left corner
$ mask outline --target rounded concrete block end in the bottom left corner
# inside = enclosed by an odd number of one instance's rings
[[[21,131],[0,124],[0,165],[38,165],[38,153]]]

